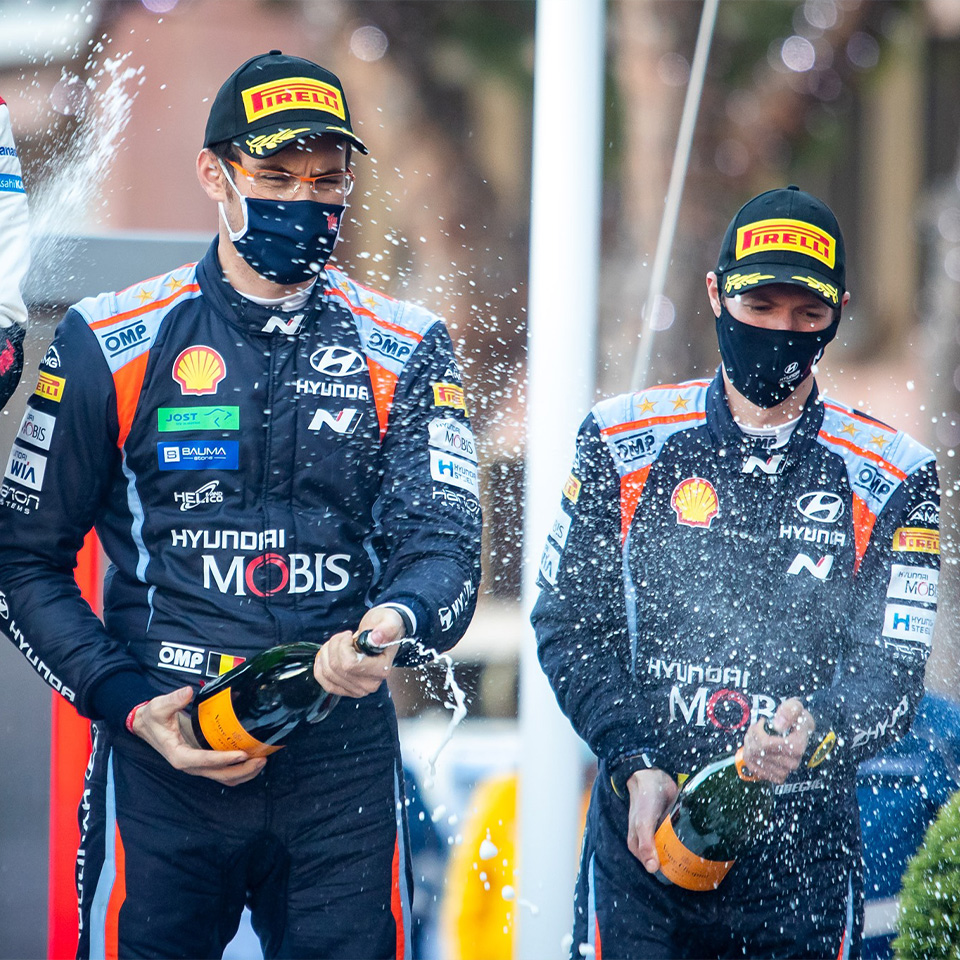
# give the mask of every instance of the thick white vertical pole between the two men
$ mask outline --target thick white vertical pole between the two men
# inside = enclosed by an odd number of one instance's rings
[[[528,304],[523,608],[560,502],[580,421],[593,404],[604,0],[537,0]],[[520,657],[516,960],[553,960],[570,932],[583,747],[537,661]],[[532,905],[528,906],[528,904]],[[534,912],[534,910],[536,912]]]

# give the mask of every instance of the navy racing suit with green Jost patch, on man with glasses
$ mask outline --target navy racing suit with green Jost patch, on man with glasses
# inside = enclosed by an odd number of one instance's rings
[[[128,734],[138,703],[374,604],[446,650],[479,580],[476,448],[426,310],[328,267],[281,313],[198,263],[80,301],[0,498],[7,626],[93,718],[81,955],[219,956],[244,898],[269,956],[406,957],[410,863],[386,685],[224,789]],[[72,568],[95,526],[104,622]],[[415,662],[404,645],[395,663]]]

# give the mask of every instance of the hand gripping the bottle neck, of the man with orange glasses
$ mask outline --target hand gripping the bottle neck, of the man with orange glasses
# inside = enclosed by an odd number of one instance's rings
[[[369,642],[381,647],[381,656],[368,656],[357,651],[354,637],[370,631]],[[390,607],[373,607],[360,621],[356,631],[335,633],[320,648],[313,664],[317,683],[341,697],[365,697],[384,680],[400,649],[404,637],[403,620]]]

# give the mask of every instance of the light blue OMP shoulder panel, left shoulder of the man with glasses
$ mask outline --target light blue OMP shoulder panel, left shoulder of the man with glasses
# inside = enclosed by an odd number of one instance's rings
[[[96,336],[111,373],[153,346],[171,310],[201,295],[196,266],[186,264],[119,293],[101,293],[74,304]]]

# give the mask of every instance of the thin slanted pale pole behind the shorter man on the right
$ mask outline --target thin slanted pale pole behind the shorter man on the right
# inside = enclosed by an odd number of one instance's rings
[[[704,0],[703,13],[700,15],[700,29],[697,32],[697,45],[693,52],[693,64],[690,67],[690,81],[687,95],[683,101],[683,114],[680,117],[680,133],[677,135],[677,149],[673,154],[673,167],[670,170],[670,184],[667,187],[667,199],[663,206],[663,219],[660,221],[660,236],[653,256],[653,269],[650,271],[650,289],[640,318],[642,331],[640,346],[633,364],[633,376],[630,389],[639,390],[646,385],[650,372],[650,354],[653,349],[653,318],[663,288],[667,281],[667,267],[670,265],[670,251],[673,248],[673,234],[680,213],[680,198],[683,195],[683,182],[687,177],[687,164],[690,160],[690,146],[693,143],[693,131],[697,125],[697,112],[700,109],[700,97],[703,93],[703,77],[707,72],[707,58],[710,54],[710,42],[713,39],[713,27],[717,21],[719,0]]]

